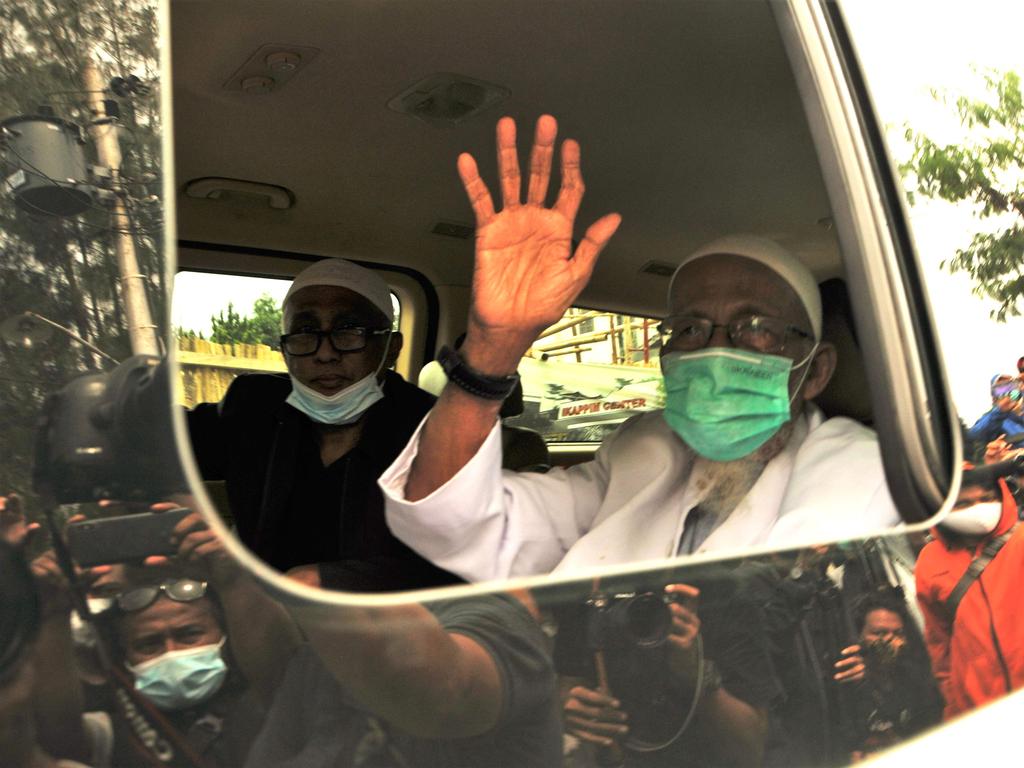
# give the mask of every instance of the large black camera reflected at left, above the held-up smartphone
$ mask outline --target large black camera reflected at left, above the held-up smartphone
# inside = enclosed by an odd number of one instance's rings
[[[135,355],[51,394],[37,432],[33,484],[58,504],[154,501],[187,487],[171,427],[166,359]]]

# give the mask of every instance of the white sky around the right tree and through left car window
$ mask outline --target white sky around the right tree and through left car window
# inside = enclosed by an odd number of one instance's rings
[[[1022,0],[847,0],[844,9],[876,109],[892,127],[891,148],[897,155],[905,152],[900,146],[904,123],[936,140],[956,141],[963,135],[951,111],[932,98],[932,88],[981,95],[981,80],[972,66],[1024,75]],[[1014,372],[1024,355],[1024,319],[990,319],[993,302],[973,296],[966,274],[939,268],[978,229],[970,206],[919,197],[910,216],[953,400],[970,424],[990,406],[991,376]],[[280,301],[288,289],[284,281],[197,276],[179,276],[177,287],[188,302],[175,302],[172,317],[175,326],[206,335],[210,315],[224,308],[228,298],[247,313],[264,292]]]

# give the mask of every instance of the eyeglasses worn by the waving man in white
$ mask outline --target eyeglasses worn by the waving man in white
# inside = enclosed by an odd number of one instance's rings
[[[759,314],[726,325],[713,323],[707,317],[678,314],[666,317],[657,331],[662,335],[664,350],[690,352],[708,346],[716,328],[724,328],[729,341],[737,348],[768,354],[781,352],[793,340],[806,342],[812,338],[811,334],[785,321]]]

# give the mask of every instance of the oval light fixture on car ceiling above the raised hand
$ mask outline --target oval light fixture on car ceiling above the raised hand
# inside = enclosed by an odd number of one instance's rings
[[[465,75],[431,75],[387,102],[388,109],[432,125],[453,126],[508,98],[511,91]]]

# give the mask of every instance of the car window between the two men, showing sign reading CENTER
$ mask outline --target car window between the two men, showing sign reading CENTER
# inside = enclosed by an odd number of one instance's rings
[[[664,404],[657,352],[657,321],[571,308],[523,357],[523,414],[506,423],[548,442],[600,442]]]

